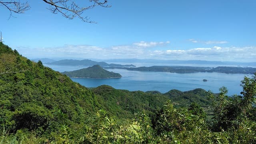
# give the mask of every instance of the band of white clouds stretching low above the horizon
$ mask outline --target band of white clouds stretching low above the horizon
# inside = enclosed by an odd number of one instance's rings
[[[214,60],[256,62],[256,46],[166,48],[169,42],[139,42],[102,48],[90,45],[64,45],[53,48],[16,48],[28,58],[154,58],[164,60]],[[149,47],[152,48],[149,48]],[[162,47],[161,47],[162,46]],[[155,47],[155,48],[153,48]]]

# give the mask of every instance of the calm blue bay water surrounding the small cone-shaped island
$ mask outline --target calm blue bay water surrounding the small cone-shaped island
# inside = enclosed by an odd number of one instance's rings
[[[78,66],[50,66],[53,70],[60,72],[78,70],[84,67]],[[212,92],[219,92],[218,89],[222,86],[228,88],[228,95],[240,94],[242,88],[240,81],[244,76],[251,76],[245,74],[224,74],[224,73],[170,73],[170,72],[140,72],[129,71],[122,69],[106,69],[120,73],[122,78],[110,79],[93,79],[93,78],[71,78],[74,82],[78,82],[86,87],[97,87],[103,84],[112,86],[116,89],[124,90],[157,90],[162,93],[168,92],[172,89],[181,91],[193,90],[195,88],[203,88],[204,90],[212,90]],[[208,80],[203,82],[203,79]]]

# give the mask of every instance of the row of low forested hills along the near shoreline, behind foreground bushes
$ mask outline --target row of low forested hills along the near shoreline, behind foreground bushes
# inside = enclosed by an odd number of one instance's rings
[[[96,94],[98,103],[111,115],[119,118],[132,118],[134,113],[142,110],[154,117],[168,100],[171,100],[176,108],[188,108],[192,102],[196,102],[206,109],[211,106],[207,92],[203,89],[187,92],[170,90],[165,94],[158,91],[117,90],[107,85],[91,89]]]

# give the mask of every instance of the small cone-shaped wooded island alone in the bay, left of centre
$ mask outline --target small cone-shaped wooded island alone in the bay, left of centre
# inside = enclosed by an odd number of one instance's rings
[[[62,74],[66,74],[67,76],[78,77],[78,78],[120,78],[122,77],[118,73],[104,70],[102,67],[100,67],[100,65],[94,65],[89,68],[74,70],[72,72],[62,72]]]

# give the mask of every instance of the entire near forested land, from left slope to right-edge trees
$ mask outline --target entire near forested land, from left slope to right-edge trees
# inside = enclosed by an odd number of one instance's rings
[[[241,96],[86,88],[0,43],[0,144],[256,143],[256,74]]]

